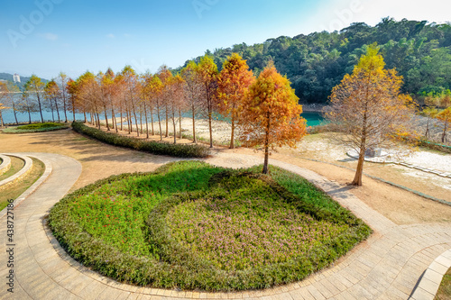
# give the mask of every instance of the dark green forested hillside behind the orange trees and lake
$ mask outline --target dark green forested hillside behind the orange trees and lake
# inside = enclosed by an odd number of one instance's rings
[[[300,102],[324,103],[332,87],[353,70],[373,42],[381,47],[387,68],[396,68],[404,77],[402,92],[419,98],[422,94],[446,93],[451,88],[449,23],[384,18],[374,27],[353,23],[340,32],[281,36],[252,46],[243,43],[207,53],[221,68],[228,56],[238,52],[257,75],[273,59],[281,74],[290,78]]]

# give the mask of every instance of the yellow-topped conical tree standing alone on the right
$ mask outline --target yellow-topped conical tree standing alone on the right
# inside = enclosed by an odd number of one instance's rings
[[[400,94],[402,77],[385,69],[375,45],[347,74],[330,95],[326,118],[344,134],[339,139],[359,155],[352,185],[362,186],[367,149],[390,147],[393,141],[411,137],[415,105],[410,95]]]

